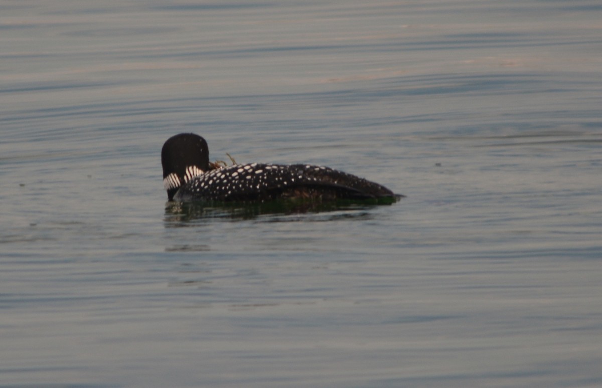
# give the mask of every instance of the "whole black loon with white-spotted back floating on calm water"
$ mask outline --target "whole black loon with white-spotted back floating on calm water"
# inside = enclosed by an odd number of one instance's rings
[[[163,186],[168,201],[263,202],[273,199],[384,199],[395,194],[355,175],[311,164],[249,163],[216,167],[203,137],[180,133],[161,148]]]

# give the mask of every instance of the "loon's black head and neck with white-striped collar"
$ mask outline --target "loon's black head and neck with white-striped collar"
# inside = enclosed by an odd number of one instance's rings
[[[205,139],[194,133],[179,133],[166,140],[161,148],[163,187],[167,198],[182,184],[209,170],[209,148]]]

